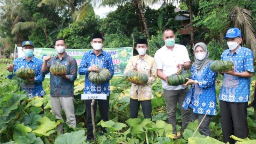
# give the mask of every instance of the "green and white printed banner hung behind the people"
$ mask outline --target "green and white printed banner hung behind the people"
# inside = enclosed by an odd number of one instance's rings
[[[18,48],[18,57],[24,56],[21,47]],[[68,55],[72,56],[76,59],[78,68],[80,66],[80,62],[85,52],[88,52],[92,49],[66,49]],[[128,60],[132,57],[132,47],[123,47],[123,48],[107,48],[102,49],[105,52],[108,52],[113,59],[115,74],[114,76],[123,76],[124,75],[124,68],[127,65]],[[39,59],[43,59],[44,56],[50,55],[52,56],[57,55],[55,49],[50,48],[34,48],[34,55]]]

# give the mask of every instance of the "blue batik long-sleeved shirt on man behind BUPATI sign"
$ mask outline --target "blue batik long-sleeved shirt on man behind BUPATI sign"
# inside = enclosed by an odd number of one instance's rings
[[[85,75],[84,94],[99,93],[99,94],[107,94],[107,96],[109,96],[110,95],[109,81],[103,84],[96,85],[91,83],[88,79],[88,75],[89,75],[88,68],[93,64],[95,64],[94,62],[97,60],[100,61],[100,65],[102,68],[107,68],[110,71],[111,76],[109,80],[114,75],[114,65],[113,65],[112,57],[109,53],[103,50],[101,50],[101,53],[98,56],[96,56],[93,50],[84,53],[80,63],[80,67],[78,68],[78,73],[80,75]]]

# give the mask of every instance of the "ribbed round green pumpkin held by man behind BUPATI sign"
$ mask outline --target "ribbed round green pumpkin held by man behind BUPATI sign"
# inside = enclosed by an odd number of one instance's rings
[[[91,71],[89,73],[88,79],[93,84],[102,84],[108,81],[111,74],[108,69],[106,68],[100,68],[98,71]]]

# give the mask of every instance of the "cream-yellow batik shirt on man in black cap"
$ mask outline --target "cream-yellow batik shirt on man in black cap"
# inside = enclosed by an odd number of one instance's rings
[[[156,81],[156,61],[153,57],[147,54],[140,59],[139,55],[133,56],[128,61],[124,74],[128,71],[133,71],[133,64],[138,63],[137,68],[139,73],[144,73],[148,76],[148,82],[144,85],[132,84],[131,98],[134,100],[151,100],[153,99],[151,84]]]

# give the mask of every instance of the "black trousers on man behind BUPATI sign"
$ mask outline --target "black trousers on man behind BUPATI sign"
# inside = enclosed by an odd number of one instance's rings
[[[87,119],[87,140],[93,140],[93,128],[92,128],[92,113],[91,113],[91,103],[92,100],[85,100],[86,107],[86,119]],[[94,118],[96,115],[97,103],[99,104],[100,117],[103,121],[108,121],[108,106],[109,106],[109,96],[107,96],[107,100],[95,100],[93,111]],[[102,129],[105,131],[105,129]]]

